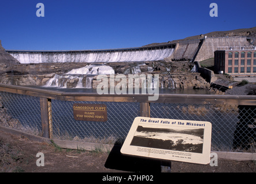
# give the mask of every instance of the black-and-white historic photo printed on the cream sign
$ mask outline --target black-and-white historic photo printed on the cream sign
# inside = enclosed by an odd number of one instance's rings
[[[202,154],[203,132],[203,128],[150,128],[139,124],[130,145]]]

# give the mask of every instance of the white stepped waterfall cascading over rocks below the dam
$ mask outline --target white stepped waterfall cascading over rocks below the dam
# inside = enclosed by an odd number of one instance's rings
[[[94,75],[114,74],[110,66],[105,65],[88,65],[73,69],[66,74],[54,75],[47,81],[44,87],[62,87],[62,88],[92,88]]]

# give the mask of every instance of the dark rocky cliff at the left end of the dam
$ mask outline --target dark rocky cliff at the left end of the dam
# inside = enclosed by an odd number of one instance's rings
[[[0,73],[10,72],[13,70],[13,66],[19,64],[17,59],[11,56],[9,53],[5,52],[5,49],[2,47],[0,40]]]

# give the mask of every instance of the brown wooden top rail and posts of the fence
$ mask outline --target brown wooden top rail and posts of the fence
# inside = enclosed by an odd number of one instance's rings
[[[150,117],[150,103],[171,104],[220,104],[256,106],[255,95],[196,95],[196,94],[159,94],[157,101],[149,101],[145,94],[97,94],[76,93],[48,90],[35,87],[3,85],[0,91],[29,95],[40,98],[43,137],[52,136],[51,99],[61,101],[94,101],[94,102],[139,102],[140,116]]]

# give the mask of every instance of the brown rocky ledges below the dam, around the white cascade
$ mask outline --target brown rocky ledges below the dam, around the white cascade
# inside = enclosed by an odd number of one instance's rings
[[[125,74],[151,74],[159,75],[160,87],[175,87],[176,89],[209,89],[210,84],[198,72],[191,72],[194,64],[191,62],[124,62],[124,63],[97,63],[113,68],[115,75]],[[21,86],[43,86],[55,74],[64,75],[72,69],[81,68],[90,63],[40,63],[40,64],[13,64],[11,70],[2,72],[0,83]],[[95,66],[92,63],[91,66]],[[172,85],[168,86],[172,79]],[[99,81],[95,75],[92,87],[96,88]],[[63,80],[62,80],[63,81]],[[66,86],[74,87],[78,79],[66,80]],[[83,79],[83,86],[86,80]]]

